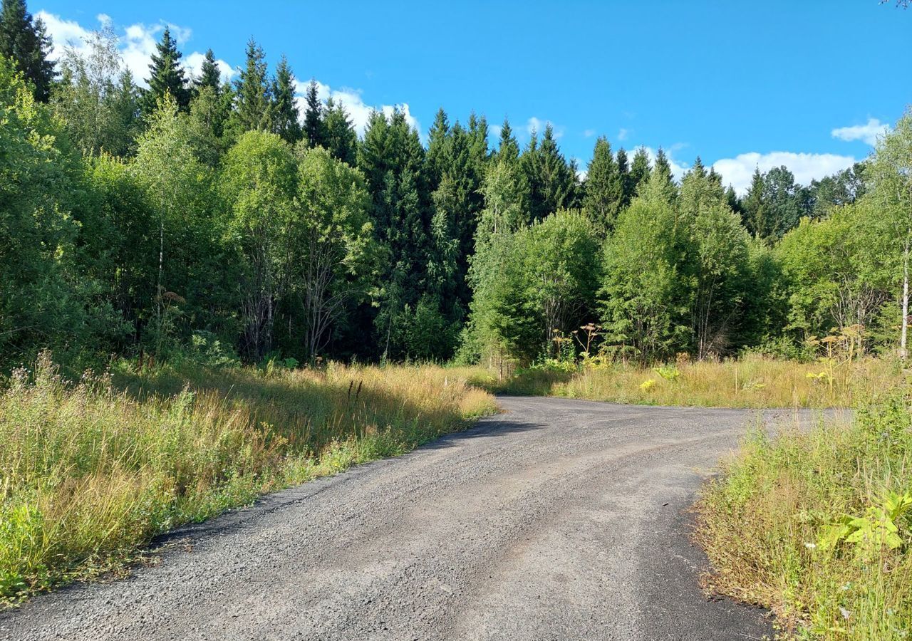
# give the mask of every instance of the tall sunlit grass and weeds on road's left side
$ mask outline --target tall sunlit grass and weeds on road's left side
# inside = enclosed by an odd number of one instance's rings
[[[0,601],[129,562],[154,535],[394,456],[494,410],[441,367],[161,369],[0,391]]]

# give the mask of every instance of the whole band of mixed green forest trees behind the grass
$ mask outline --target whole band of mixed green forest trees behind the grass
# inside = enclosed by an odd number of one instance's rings
[[[427,146],[399,111],[359,138],[316,82],[301,113],[288,61],[270,75],[253,40],[223,83],[212,50],[190,78],[165,29],[148,89],[107,28],[57,68],[49,47],[4,0],[5,363],[43,346],[529,362],[575,354],[590,323],[608,357],[800,357],[850,327],[865,348],[905,331],[910,116],[864,164],[808,186],[758,171],[739,197],[700,159],[677,183],[661,150],[599,139],[583,177],[550,126],[521,149],[504,120],[491,149],[483,117],[442,109]]]

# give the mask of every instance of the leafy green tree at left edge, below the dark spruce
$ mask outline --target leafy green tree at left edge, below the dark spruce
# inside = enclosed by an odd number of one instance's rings
[[[60,124],[0,59],[0,356],[86,338],[69,274],[78,225],[70,215],[74,159],[55,145]]]

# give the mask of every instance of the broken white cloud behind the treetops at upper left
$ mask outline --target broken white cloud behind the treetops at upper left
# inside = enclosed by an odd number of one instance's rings
[[[50,57],[54,60],[59,59],[64,52],[65,47],[73,47],[79,54],[88,53],[88,39],[91,36],[91,29],[81,26],[75,20],[65,20],[55,14],[49,14],[47,11],[39,11],[36,16],[40,17],[47,26],[47,33],[53,40],[54,47],[51,50]],[[107,14],[98,14],[96,16],[98,26],[110,27],[118,36],[120,55],[123,57],[123,65],[130,69],[133,74],[133,81],[145,87],[146,77],[149,75],[149,62],[152,53],[155,51],[155,43],[161,37],[161,32],[165,24],[144,25],[134,23],[123,27],[121,30],[114,28],[114,23]],[[185,43],[192,36],[192,29],[179,25],[168,25],[174,38],[181,44]],[[194,51],[183,57],[183,67],[192,74],[199,75],[202,67],[203,54]],[[224,60],[218,60],[219,69],[222,71],[224,79],[231,79],[234,75],[234,69]]]

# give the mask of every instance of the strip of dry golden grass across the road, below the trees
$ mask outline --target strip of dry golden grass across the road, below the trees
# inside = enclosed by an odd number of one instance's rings
[[[851,407],[893,388],[896,364],[870,358],[851,363],[796,363],[745,357],[721,363],[664,367],[609,365],[520,369],[498,380],[480,368],[475,380],[504,394],[588,398],[641,405],[726,408]]]

